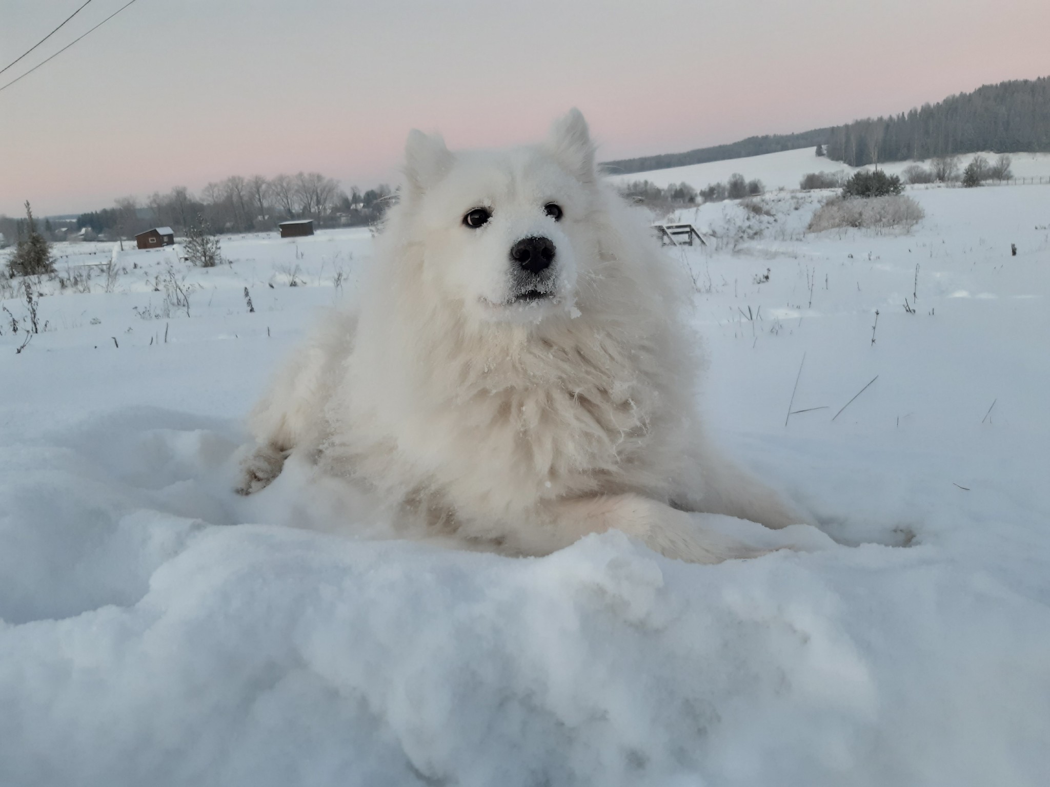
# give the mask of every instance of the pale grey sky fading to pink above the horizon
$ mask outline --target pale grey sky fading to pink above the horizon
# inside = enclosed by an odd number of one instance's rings
[[[0,0],[6,65],[83,0]],[[116,10],[92,0],[0,85]],[[0,92],[0,213],[231,174],[396,179],[407,130],[536,139],[579,106],[620,158],[1050,75],[1046,0],[139,0]],[[0,65],[0,67],[2,67]]]

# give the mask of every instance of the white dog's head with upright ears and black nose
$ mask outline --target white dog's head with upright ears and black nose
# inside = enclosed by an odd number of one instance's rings
[[[475,321],[539,321],[575,311],[576,276],[594,256],[586,219],[597,195],[594,147],[573,109],[540,145],[449,152],[413,131],[406,214],[427,285]]]

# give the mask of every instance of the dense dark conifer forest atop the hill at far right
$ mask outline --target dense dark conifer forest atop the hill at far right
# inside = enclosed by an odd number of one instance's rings
[[[985,85],[938,104],[831,129],[827,157],[862,167],[992,150],[1050,151],[1050,77]]]

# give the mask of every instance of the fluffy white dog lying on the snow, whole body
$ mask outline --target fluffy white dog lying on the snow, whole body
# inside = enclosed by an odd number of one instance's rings
[[[300,452],[406,532],[522,555],[615,528],[717,562],[762,550],[687,512],[802,519],[709,447],[690,284],[602,182],[578,110],[504,151],[413,131],[405,174],[361,304],[328,315],[253,411],[239,491]],[[526,270],[522,243],[548,264]]]

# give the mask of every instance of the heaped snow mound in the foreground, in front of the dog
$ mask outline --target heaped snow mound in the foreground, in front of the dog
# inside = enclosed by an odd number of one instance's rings
[[[509,559],[233,526],[235,434],[139,410],[6,452],[0,782],[1047,773],[1046,607],[943,549],[697,567],[618,533]]]

